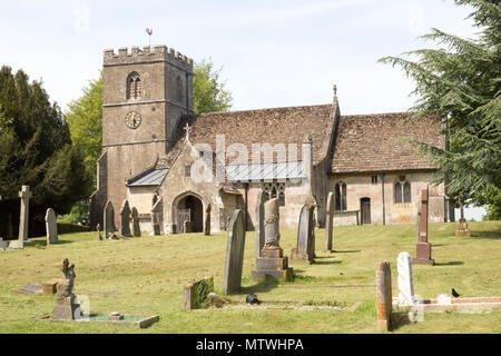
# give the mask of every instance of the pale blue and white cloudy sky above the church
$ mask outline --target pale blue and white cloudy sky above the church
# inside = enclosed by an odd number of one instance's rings
[[[405,111],[413,81],[377,59],[434,47],[438,28],[473,38],[452,0],[17,0],[2,3],[0,65],[42,80],[66,110],[97,79],[102,51],[166,44],[212,59],[232,110],[332,102],[342,115]],[[483,208],[466,209],[479,220]]]

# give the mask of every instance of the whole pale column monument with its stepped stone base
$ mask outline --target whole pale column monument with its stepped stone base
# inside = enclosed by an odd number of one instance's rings
[[[250,273],[253,280],[264,280],[268,277],[291,280],[293,269],[279,246],[279,199],[271,199],[264,204],[264,246],[256,258],[256,269]]]

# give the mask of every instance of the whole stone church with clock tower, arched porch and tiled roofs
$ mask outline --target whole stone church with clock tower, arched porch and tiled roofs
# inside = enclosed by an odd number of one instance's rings
[[[281,228],[296,228],[302,206],[325,225],[415,222],[419,190],[438,167],[406,141],[445,147],[431,119],[409,113],[341,115],[332,103],[194,113],[193,60],[165,46],[104,53],[102,154],[90,224],[111,201],[139,212],[143,231],[225,230],[234,209],[255,224],[258,191],[279,198]],[[430,186],[430,220],[454,220],[444,186]],[[118,217],[116,216],[116,222]]]

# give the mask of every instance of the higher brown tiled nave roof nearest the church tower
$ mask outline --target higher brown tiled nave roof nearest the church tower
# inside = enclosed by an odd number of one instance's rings
[[[332,105],[318,105],[308,107],[273,108],[246,111],[212,112],[196,116],[181,117],[177,131],[173,139],[173,149],[160,157],[157,168],[167,168],[173,164],[179,151],[186,131],[184,127],[189,123],[189,140],[197,144],[210,145],[216,151],[216,135],[224,136],[225,147],[232,144],[242,144],[247,149],[247,158],[226,157],[225,165],[252,164],[253,144],[269,144],[277,151],[284,152],[285,159],[279,155],[274,161],[301,160],[301,145],[304,136],[310,134],[313,139],[313,159],[321,160],[327,155],[328,140],[333,119],[331,118]],[[276,145],[283,144],[283,149]],[[289,144],[297,147],[297,156],[288,157]],[[263,160],[262,160],[263,161]]]

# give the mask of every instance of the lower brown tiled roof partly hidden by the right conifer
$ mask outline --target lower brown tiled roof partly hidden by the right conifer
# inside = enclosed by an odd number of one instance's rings
[[[404,123],[407,112],[342,116],[333,145],[332,172],[436,169],[405,139],[444,148],[444,136],[432,119]]]

